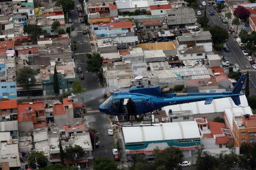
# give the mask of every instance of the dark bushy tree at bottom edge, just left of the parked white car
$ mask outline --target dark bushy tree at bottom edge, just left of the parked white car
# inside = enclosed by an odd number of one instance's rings
[[[181,150],[177,147],[168,147],[156,155],[155,164],[162,165],[164,169],[174,169],[183,159]]]

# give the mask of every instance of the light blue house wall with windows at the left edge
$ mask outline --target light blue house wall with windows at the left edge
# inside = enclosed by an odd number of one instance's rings
[[[15,86],[15,88],[11,88],[11,86]],[[6,88],[2,88],[6,87]],[[0,83],[0,98],[3,98],[3,93],[7,93],[7,97],[17,97],[16,92],[16,82],[1,82]]]

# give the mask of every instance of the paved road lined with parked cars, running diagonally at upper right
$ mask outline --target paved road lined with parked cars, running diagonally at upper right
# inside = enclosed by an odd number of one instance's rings
[[[200,4],[202,1],[198,1]],[[208,1],[205,1],[208,3]],[[220,16],[222,16],[221,13],[217,13],[213,6],[207,6],[207,17],[209,18],[209,25],[213,27],[214,25],[218,25],[222,28],[225,28],[228,30],[229,25],[224,24],[221,22]],[[201,10],[202,15],[204,15],[204,10]],[[210,16],[209,11],[213,11],[214,15]],[[250,65],[249,61],[247,61],[246,56],[243,55],[242,50],[240,49],[240,46],[238,46],[236,40],[230,35],[229,33],[229,39],[228,42],[226,42],[230,49],[230,53],[224,52],[224,50],[221,50],[220,52],[216,52],[217,54],[226,55],[230,58],[230,61],[232,63],[238,63],[240,65],[242,70],[249,69],[250,73],[250,95],[256,95],[256,72],[253,69],[253,67]]]

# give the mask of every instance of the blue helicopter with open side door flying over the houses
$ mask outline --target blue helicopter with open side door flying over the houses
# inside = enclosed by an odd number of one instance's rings
[[[231,97],[234,104],[240,105],[240,91],[245,83],[247,74],[242,74],[233,91],[228,92],[209,92],[209,93],[187,93],[187,94],[163,94],[158,85],[152,86],[133,86],[130,90],[113,92],[104,100],[99,110],[103,113],[125,116],[128,114],[125,105],[131,99],[135,107],[133,115],[145,114],[167,105],[191,103],[194,101],[203,101],[204,104],[211,104],[213,99]]]

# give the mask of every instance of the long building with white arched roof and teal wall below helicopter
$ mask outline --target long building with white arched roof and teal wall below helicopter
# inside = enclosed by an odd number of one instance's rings
[[[126,126],[122,128],[125,154],[140,154],[154,158],[154,149],[162,152],[167,147],[178,147],[183,153],[191,154],[200,145],[200,131],[195,121],[154,124],[154,126]]]

